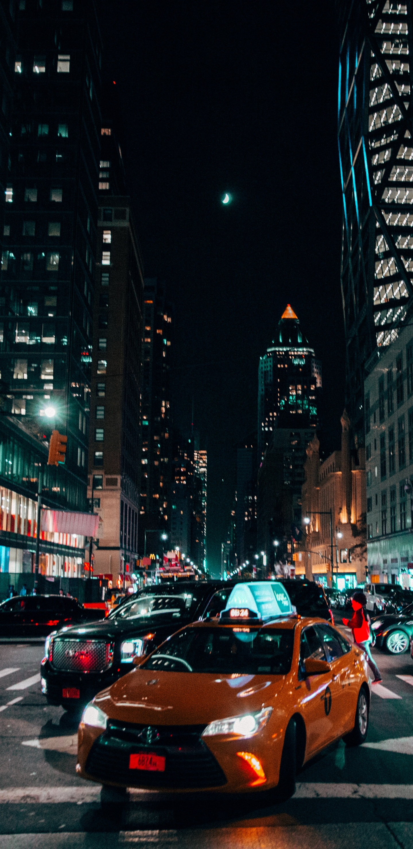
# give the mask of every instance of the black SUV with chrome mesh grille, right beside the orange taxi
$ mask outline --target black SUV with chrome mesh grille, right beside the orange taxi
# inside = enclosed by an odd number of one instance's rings
[[[135,657],[149,654],[178,628],[215,610],[215,595],[222,587],[221,581],[194,581],[144,588],[104,621],[51,634],[41,666],[42,693],[49,704],[78,710],[130,672]]]

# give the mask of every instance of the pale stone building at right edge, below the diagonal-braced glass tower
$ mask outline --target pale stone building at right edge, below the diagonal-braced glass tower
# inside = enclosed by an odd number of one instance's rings
[[[365,378],[365,457],[370,580],[413,586],[411,326],[380,351]]]

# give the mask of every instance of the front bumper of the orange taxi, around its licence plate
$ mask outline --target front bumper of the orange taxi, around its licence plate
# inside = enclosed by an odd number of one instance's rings
[[[122,728],[121,728],[122,725]],[[82,722],[78,731],[76,772],[100,784],[139,787],[161,792],[240,793],[268,790],[278,784],[282,735],[257,734],[224,739],[201,736],[204,726],[152,728],[143,742],[144,726],[127,728],[108,723],[105,732]],[[161,731],[160,739],[156,734]],[[241,756],[238,753],[243,753]],[[130,756],[140,753],[165,758],[163,771],[130,768]],[[261,768],[260,768],[261,767]]]

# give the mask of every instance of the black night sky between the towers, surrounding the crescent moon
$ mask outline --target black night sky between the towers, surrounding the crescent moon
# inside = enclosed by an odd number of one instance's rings
[[[174,303],[174,424],[190,427],[194,398],[208,452],[218,571],[236,443],[257,429],[258,360],[287,302],[322,361],[321,447],[339,447],[334,4],[108,0],[102,23],[145,275]]]

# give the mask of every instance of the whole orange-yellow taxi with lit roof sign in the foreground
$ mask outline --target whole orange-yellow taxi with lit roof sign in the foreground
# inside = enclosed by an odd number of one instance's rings
[[[364,653],[325,620],[297,616],[278,582],[237,584],[215,621],[135,664],[79,725],[76,771],[104,788],[287,798],[303,763],[367,736]]]

